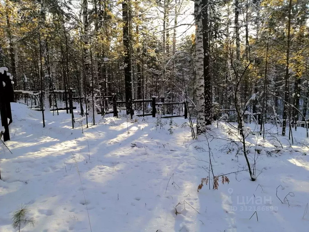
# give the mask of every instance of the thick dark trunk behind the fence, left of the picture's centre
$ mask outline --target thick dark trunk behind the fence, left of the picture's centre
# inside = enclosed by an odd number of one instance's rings
[[[127,114],[133,117],[132,109],[132,73],[131,73],[131,49],[129,36],[129,0],[122,2],[123,19],[123,50],[124,50],[124,72],[125,72],[125,106]]]

